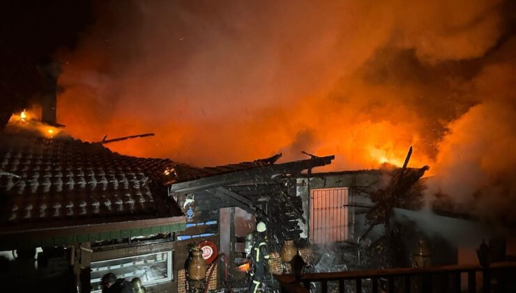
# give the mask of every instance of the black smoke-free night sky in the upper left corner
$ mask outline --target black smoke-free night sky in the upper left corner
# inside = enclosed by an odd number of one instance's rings
[[[38,65],[73,48],[93,23],[91,1],[0,1],[0,126],[40,90]]]

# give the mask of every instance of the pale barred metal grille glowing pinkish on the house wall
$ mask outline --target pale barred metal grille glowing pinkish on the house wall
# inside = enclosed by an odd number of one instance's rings
[[[331,243],[347,239],[348,195],[348,188],[314,189],[311,191],[311,243]]]

